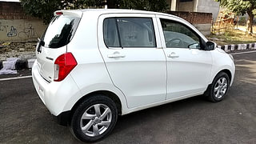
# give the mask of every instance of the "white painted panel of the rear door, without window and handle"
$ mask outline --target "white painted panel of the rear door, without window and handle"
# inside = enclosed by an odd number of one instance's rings
[[[154,14],[103,14],[98,19],[98,46],[106,68],[115,86],[126,95],[129,108],[161,102],[166,98],[166,58],[162,49],[154,47],[107,48],[102,34],[104,18],[153,18]],[[154,26],[154,31],[157,27]],[[157,47],[159,34],[156,34]],[[109,58],[110,54],[123,54],[124,58]]]

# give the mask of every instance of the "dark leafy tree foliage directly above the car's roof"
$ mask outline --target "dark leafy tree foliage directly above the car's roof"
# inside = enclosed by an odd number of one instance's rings
[[[26,14],[50,22],[55,10],[84,9],[90,6],[105,6],[112,9],[136,9],[165,11],[166,0],[21,0]]]

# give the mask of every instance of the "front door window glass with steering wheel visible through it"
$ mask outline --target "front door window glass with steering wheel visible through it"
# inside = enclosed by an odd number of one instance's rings
[[[160,20],[167,48],[200,49],[200,38],[190,28],[179,22]]]

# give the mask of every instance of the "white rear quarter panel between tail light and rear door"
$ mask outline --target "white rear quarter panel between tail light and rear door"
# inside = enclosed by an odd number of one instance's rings
[[[84,12],[76,34],[67,46],[67,52],[71,52],[78,62],[78,66],[71,71],[70,75],[81,92],[80,95],[70,98],[71,103],[67,106],[74,106],[75,102],[91,92],[108,90],[118,95],[122,102],[122,110],[126,110],[126,98],[113,85],[98,50],[98,16],[99,14],[95,12]]]

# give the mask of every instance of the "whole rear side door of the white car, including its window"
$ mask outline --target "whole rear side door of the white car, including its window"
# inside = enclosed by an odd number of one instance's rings
[[[166,58],[154,14],[104,14],[98,45],[114,86],[129,108],[166,98]]]

